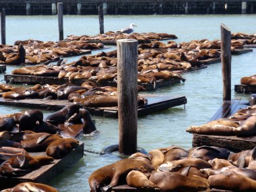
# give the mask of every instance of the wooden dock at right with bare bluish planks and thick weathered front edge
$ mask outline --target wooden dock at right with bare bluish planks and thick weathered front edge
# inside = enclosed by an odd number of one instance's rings
[[[232,100],[231,102],[226,101],[222,104],[210,121],[229,117],[230,115],[236,113],[237,110],[247,108],[247,106],[249,106],[249,102],[242,100]],[[233,152],[240,152],[242,150],[252,150],[256,146],[256,136],[236,137],[193,134],[192,146],[216,146],[226,148]]]

